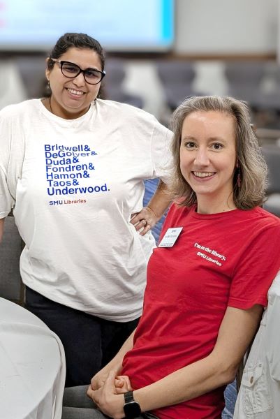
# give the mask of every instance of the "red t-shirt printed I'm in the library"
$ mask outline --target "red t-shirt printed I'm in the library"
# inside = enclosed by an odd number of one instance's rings
[[[212,352],[226,308],[267,304],[280,268],[280,220],[260,207],[198,214],[172,205],[168,228],[183,227],[173,247],[149,260],[142,318],[121,374],[134,390]],[[161,239],[160,239],[161,240]],[[157,409],[161,419],[216,419],[224,387]]]

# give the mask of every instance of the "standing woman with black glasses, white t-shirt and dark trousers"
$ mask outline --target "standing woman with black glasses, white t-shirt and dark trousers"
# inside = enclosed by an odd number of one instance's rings
[[[89,383],[135,329],[151,228],[169,203],[170,131],[98,98],[104,66],[98,41],[64,34],[47,58],[50,97],[0,112],[0,233],[13,208],[26,307],[64,344],[66,385]]]

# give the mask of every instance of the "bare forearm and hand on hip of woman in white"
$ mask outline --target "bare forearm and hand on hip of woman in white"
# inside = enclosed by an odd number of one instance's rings
[[[160,180],[147,207],[144,207],[131,218],[131,223],[137,231],[142,228],[140,235],[145,235],[154,227],[168,209],[170,202],[171,196],[168,193],[168,186]]]

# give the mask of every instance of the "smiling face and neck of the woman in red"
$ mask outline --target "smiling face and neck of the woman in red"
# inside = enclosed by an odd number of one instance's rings
[[[218,111],[198,111],[184,119],[180,170],[196,192],[198,212],[235,209],[233,175],[236,161],[232,116]]]

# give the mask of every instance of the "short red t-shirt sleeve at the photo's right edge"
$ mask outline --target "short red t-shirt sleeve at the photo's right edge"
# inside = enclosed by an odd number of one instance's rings
[[[279,269],[280,226],[275,223],[263,229],[246,247],[233,272],[228,305],[240,309],[249,309],[254,304],[266,307],[267,291]]]

